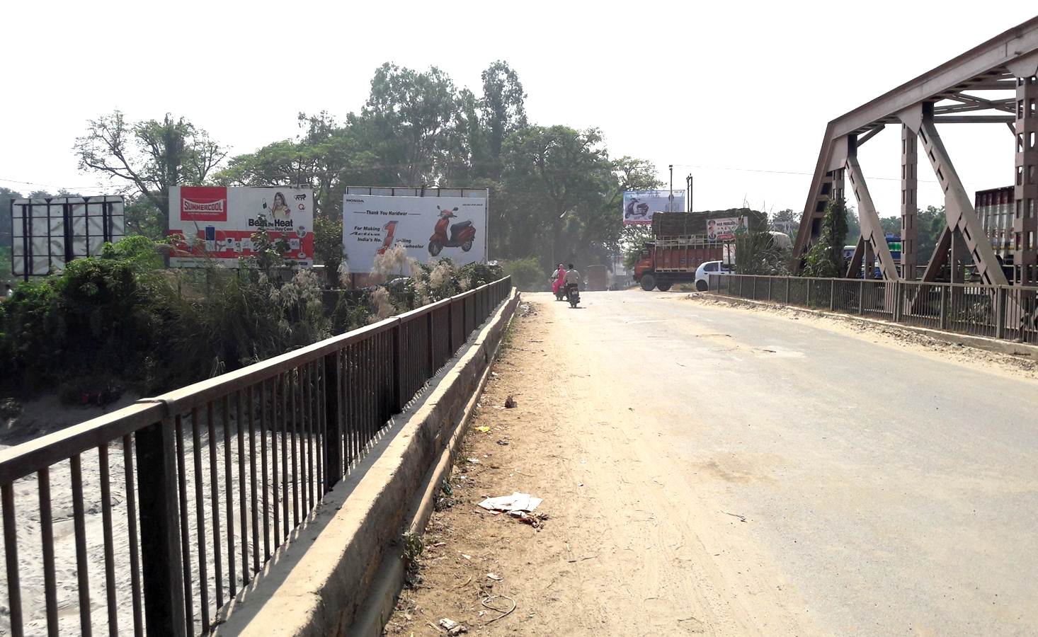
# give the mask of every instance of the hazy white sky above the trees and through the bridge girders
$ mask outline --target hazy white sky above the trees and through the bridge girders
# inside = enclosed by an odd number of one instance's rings
[[[599,127],[612,155],[649,159],[664,181],[675,164],[676,188],[693,173],[696,210],[801,210],[826,122],[1033,10],[996,5],[8,0],[0,185],[103,192],[71,148],[116,108],[186,116],[247,153],[295,136],[300,111],[359,110],[384,61],[437,65],[479,92],[504,59],[534,122]],[[1012,183],[1004,124],[941,130],[968,190]],[[899,213],[899,135],[859,154],[882,215]],[[930,168],[920,176],[921,205],[939,204]]]

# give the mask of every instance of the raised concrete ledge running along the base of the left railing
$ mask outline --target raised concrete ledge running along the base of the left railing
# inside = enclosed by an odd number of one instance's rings
[[[263,577],[239,594],[216,634],[381,634],[378,619],[388,616],[402,581],[402,571],[393,580],[402,566],[401,532],[422,518],[414,515],[412,504],[419,501],[419,513],[427,496],[432,504],[444,450],[449,469],[449,454],[474,404],[473,394],[482,390],[518,303],[519,295],[513,290],[429,393],[395,417],[398,424],[326,495]],[[365,631],[374,626],[377,632],[355,633],[354,626]]]

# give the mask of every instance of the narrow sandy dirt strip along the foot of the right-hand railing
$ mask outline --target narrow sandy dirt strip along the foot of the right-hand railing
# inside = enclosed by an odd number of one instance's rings
[[[767,312],[769,314],[783,316],[789,321],[799,321],[837,331],[858,338],[865,338],[872,342],[881,343],[889,347],[909,349],[930,356],[951,359],[955,362],[969,364],[972,366],[984,366],[992,371],[1007,373],[1014,377],[1038,378],[1038,361],[1026,356],[1014,356],[1002,354],[979,348],[972,348],[964,343],[949,342],[939,338],[934,338],[927,334],[921,334],[912,330],[906,330],[893,325],[873,321],[862,321],[854,316],[841,316],[840,314],[818,314],[815,311],[807,310],[788,305],[775,305],[765,303],[745,303],[738,300],[728,300],[714,297],[712,295],[695,293],[683,297],[684,300],[727,307],[737,311]]]

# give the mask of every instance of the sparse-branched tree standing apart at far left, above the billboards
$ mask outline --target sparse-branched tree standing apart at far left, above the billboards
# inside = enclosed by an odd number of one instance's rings
[[[73,146],[79,168],[100,172],[139,194],[169,229],[170,186],[197,186],[223,161],[226,150],[209,133],[166,113],[162,121],[129,122],[120,111],[87,123]]]

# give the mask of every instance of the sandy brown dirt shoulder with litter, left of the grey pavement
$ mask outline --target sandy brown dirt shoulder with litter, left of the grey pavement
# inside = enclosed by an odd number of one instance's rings
[[[596,395],[579,355],[550,353],[566,340],[557,309],[526,306],[452,474],[456,504],[433,515],[419,581],[386,634],[442,635],[443,617],[477,635],[803,634],[802,603],[780,576],[761,567],[733,581],[714,567],[685,494],[663,487],[665,469],[638,444],[643,406]],[[509,395],[515,409],[502,407]],[[544,498],[542,528],[476,506],[514,491]],[[756,608],[740,596],[757,596]]]

